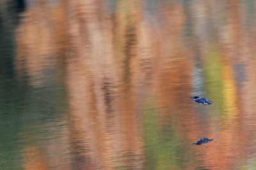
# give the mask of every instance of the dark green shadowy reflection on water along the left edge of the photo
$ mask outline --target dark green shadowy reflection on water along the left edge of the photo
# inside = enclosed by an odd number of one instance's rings
[[[24,168],[26,148],[41,148],[48,145],[45,141],[62,145],[53,139],[67,136],[62,132],[67,119],[66,92],[63,82],[54,80],[55,71],[51,71],[51,80],[38,87],[17,81],[12,32],[0,31],[0,169],[17,170]]]

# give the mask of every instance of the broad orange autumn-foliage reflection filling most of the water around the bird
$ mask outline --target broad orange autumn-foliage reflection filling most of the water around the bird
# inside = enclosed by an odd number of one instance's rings
[[[145,14],[141,1],[118,1],[111,12],[96,0],[45,4],[24,14],[15,67],[18,74],[28,74],[31,85],[45,83],[44,71],[50,68],[65,83],[71,169],[233,169],[245,164],[245,141],[256,122],[256,81],[239,3],[164,1],[157,4],[157,16]],[[233,67],[240,62],[250,65],[241,89]],[[202,67],[197,91],[192,85],[196,64]],[[194,103],[189,99],[194,94],[213,97],[215,105]],[[191,144],[202,137],[214,141]],[[47,169],[34,150],[26,154],[34,154],[36,166]],[[34,162],[26,154],[29,169]]]

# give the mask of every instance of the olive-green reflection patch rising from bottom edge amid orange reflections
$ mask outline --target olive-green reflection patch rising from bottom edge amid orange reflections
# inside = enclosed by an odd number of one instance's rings
[[[148,104],[142,112],[147,160],[145,169],[184,168],[184,150],[177,129],[170,125],[172,118],[167,118],[167,122],[161,124],[154,104]]]

